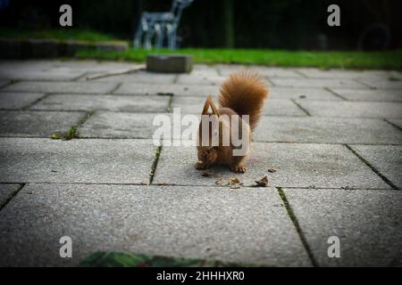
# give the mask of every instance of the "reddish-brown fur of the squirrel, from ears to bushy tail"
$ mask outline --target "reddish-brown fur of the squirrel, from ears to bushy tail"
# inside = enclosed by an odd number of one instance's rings
[[[236,128],[231,127],[230,118],[233,115],[248,115],[249,126],[246,121],[239,117],[239,126],[242,126],[241,124],[246,126],[246,134],[241,135],[247,138],[248,143],[247,146],[244,147],[248,152],[252,132],[255,130],[258,120],[261,117],[261,112],[264,108],[264,101],[267,97],[268,89],[264,80],[247,71],[234,73],[223,82],[220,94],[218,95],[218,101],[220,104],[219,109],[215,108],[211,96],[208,96],[202,115],[208,115],[209,117],[215,116],[215,118],[218,118],[219,124],[217,127],[215,126],[215,129],[209,130],[209,145],[201,145],[201,129],[203,124],[202,121],[200,123],[197,146],[197,169],[205,169],[215,164],[221,164],[229,166],[230,170],[234,172],[243,173],[246,171],[247,168],[244,166],[244,162],[247,159],[247,154],[244,156],[234,156],[233,150],[236,149],[236,147],[232,144],[231,139],[229,146],[223,146],[222,133],[224,134],[224,131],[226,130],[229,131],[230,135],[233,132],[239,134],[239,128],[236,130]],[[209,107],[213,110],[212,113],[207,112]],[[219,135],[219,145],[217,146],[213,146],[212,143],[212,137],[214,134]]]

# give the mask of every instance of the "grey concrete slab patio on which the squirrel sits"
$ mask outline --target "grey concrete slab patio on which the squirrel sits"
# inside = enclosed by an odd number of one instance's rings
[[[0,265],[77,265],[98,250],[401,265],[400,71],[197,64],[86,80],[136,64],[0,61]],[[199,118],[206,95],[239,69],[271,85],[246,174],[196,170],[196,147],[178,136],[158,148],[158,115],[181,107]],[[50,139],[71,126],[78,138]],[[264,175],[267,188],[251,187]],[[70,260],[58,255],[63,235]],[[327,255],[331,235],[339,259]]]

